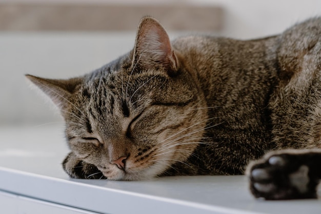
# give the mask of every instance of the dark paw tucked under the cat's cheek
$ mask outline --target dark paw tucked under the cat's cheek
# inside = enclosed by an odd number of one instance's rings
[[[70,152],[63,161],[63,168],[71,178],[76,179],[107,179],[93,164],[89,164]]]

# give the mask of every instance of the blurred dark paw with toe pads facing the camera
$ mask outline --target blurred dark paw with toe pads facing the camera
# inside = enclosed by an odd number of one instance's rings
[[[248,172],[253,195],[267,200],[315,198],[317,182],[301,159],[280,154],[254,162]]]

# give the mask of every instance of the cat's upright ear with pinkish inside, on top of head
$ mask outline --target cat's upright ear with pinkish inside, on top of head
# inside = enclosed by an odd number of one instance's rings
[[[163,68],[173,73],[178,70],[177,57],[169,37],[163,26],[152,17],[144,17],[139,23],[133,66],[145,69]]]

